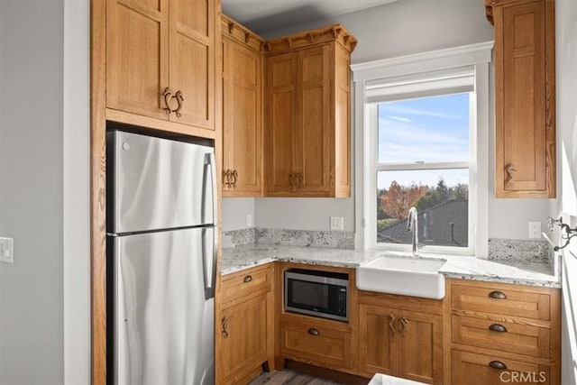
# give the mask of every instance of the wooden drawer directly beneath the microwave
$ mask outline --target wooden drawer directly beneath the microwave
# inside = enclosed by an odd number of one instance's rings
[[[280,322],[280,353],[339,368],[351,367],[351,333],[316,323]]]

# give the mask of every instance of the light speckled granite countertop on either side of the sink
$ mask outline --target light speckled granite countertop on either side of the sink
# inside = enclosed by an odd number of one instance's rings
[[[280,246],[270,244],[244,244],[223,249],[221,272],[230,274],[270,261],[289,261],[311,265],[356,268],[371,261],[384,250],[339,250],[314,247]],[[409,253],[408,258],[413,258]],[[420,258],[446,260],[440,273],[446,278],[484,280],[519,285],[561,288],[558,258],[554,266],[548,263],[527,261],[488,261],[474,257],[424,254]]]

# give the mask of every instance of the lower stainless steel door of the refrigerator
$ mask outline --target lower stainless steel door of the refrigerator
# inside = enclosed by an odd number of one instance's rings
[[[203,238],[182,229],[114,239],[114,383],[214,384],[214,298]]]

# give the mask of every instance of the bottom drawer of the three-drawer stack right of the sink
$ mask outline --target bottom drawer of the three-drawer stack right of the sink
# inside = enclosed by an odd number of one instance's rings
[[[548,366],[456,350],[453,350],[451,357],[453,385],[552,383]]]

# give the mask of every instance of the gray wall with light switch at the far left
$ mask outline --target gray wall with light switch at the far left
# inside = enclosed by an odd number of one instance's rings
[[[63,376],[63,0],[0,1],[0,383]]]

